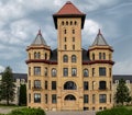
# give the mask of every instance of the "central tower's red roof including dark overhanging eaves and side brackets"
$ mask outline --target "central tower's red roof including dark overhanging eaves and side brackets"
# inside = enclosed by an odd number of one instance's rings
[[[57,13],[53,14],[55,28],[57,28],[57,18],[81,18],[82,28],[86,14],[80,12],[70,1],[67,1]]]

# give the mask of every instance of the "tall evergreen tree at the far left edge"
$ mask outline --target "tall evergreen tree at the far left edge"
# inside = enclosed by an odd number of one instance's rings
[[[12,69],[7,67],[6,70],[2,72],[2,80],[0,83],[0,100],[6,100],[7,105],[9,105],[10,101],[14,100],[14,91],[15,84],[13,82],[13,74]]]

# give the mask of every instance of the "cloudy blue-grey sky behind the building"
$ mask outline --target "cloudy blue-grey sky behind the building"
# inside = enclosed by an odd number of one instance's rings
[[[132,74],[132,0],[70,0],[87,14],[82,47],[88,49],[98,30],[114,49],[114,74]],[[57,34],[52,15],[66,0],[0,0],[0,72],[10,66],[26,73],[25,48],[41,28],[52,49]]]

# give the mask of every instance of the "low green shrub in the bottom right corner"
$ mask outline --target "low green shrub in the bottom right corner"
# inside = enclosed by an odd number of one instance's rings
[[[111,110],[98,112],[96,115],[132,115],[132,111],[129,111],[125,107],[114,107]]]

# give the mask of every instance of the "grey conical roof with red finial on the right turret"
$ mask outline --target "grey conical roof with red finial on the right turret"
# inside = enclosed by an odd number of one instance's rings
[[[100,30],[99,30],[99,33],[97,34],[97,37],[92,44],[92,46],[109,46],[105,39],[105,37],[102,36]]]

